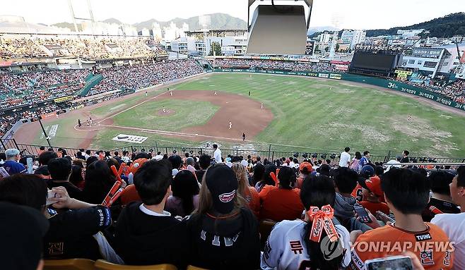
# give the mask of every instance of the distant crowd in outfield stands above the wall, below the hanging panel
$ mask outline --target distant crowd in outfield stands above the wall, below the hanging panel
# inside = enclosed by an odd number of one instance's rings
[[[225,68],[250,68],[250,69],[278,69],[290,71],[336,72],[336,66],[331,63],[313,63],[298,61],[256,60],[256,59],[216,59],[211,60],[212,66]]]

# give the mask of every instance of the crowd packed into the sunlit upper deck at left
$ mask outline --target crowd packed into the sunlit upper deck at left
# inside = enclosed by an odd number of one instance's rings
[[[0,37],[0,60],[79,57],[152,58],[166,51],[147,37]]]

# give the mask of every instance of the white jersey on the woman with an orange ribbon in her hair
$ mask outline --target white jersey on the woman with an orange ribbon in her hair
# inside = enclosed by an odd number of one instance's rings
[[[304,241],[306,224],[302,220],[276,223],[261,254],[261,269],[307,269],[310,257]],[[341,267],[346,267],[351,262],[350,235],[341,225],[336,225],[336,231],[345,250]]]

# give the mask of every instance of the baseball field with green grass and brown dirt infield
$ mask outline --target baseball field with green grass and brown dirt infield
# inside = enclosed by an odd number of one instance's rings
[[[118,139],[131,135],[150,146],[219,142],[223,148],[271,145],[328,153],[349,146],[372,154],[408,149],[415,156],[465,157],[463,112],[375,86],[281,75],[201,75],[71,111],[44,125],[57,147],[137,145]],[[46,145],[38,123],[16,134],[19,142]]]

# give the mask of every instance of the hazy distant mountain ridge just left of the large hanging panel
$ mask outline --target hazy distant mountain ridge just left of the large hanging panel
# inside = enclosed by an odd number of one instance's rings
[[[208,14],[211,17],[211,25],[208,27],[210,29],[246,29],[247,23],[240,19],[232,17],[225,13],[213,13]],[[175,23],[177,27],[182,27],[183,23],[187,23],[189,25],[189,30],[199,30],[201,26],[199,25],[199,17],[191,17],[187,19],[183,18],[174,18],[167,22],[161,22],[155,19],[146,20],[141,23],[134,24],[137,27],[137,30],[141,30],[143,28],[151,29],[153,23],[159,23],[160,27],[167,27],[170,23]]]

